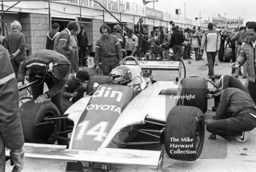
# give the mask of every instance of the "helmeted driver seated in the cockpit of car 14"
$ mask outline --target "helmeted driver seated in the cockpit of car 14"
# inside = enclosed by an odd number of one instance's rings
[[[139,93],[145,87],[140,87],[143,83],[143,79],[139,76],[132,78],[132,72],[127,66],[117,66],[110,72],[110,82],[108,84],[114,85],[126,85],[128,87],[134,87],[135,93]]]

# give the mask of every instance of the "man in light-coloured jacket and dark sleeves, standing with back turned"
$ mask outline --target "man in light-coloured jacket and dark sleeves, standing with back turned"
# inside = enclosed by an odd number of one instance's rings
[[[201,49],[206,51],[208,60],[208,77],[214,75],[215,57],[219,52],[220,36],[217,31],[214,31],[212,23],[208,23],[208,31],[203,34]]]

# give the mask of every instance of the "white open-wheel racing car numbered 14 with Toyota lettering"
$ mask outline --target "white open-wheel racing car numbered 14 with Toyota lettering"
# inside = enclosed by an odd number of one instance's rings
[[[178,61],[138,61],[129,56],[122,64],[132,71],[131,82],[139,87],[109,85],[103,79],[105,83],[99,83],[92,95],[85,95],[61,116],[51,102],[23,100],[20,116],[29,142],[25,156],[101,163],[105,169],[110,164],[162,168],[165,147],[170,158],[197,160],[205,135],[206,79],[181,79]],[[143,70],[178,71],[178,77],[157,81],[143,77]],[[67,133],[69,138],[64,138]],[[56,139],[68,146],[54,145]]]

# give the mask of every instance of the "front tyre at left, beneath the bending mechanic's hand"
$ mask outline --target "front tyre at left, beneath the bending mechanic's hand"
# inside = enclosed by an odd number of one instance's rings
[[[56,138],[50,135],[60,131],[60,120],[43,119],[56,116],[59,116],[59,110],[49,101],[42,103],[27,101],[23,103],[20,106],[20,120],[25,141],[38,144],[54,144]]]

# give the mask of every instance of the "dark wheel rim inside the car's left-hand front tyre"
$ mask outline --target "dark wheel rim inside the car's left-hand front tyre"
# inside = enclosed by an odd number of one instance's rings
[[[42,143],[48,143],[56,139],[52,136],[53,133],[56,133],[58,130],[56,120],[44,120],[45,117],[54,117],[54,116],[55,115],[53,114],[53,112],[46,112],[45,115],[42,117],[42,120],[40,121],[40,123],[36,125],[37,137],[39,138],[40,141],[42,141]]]

